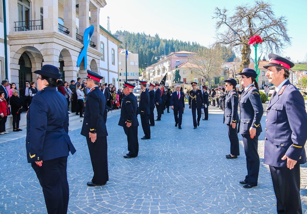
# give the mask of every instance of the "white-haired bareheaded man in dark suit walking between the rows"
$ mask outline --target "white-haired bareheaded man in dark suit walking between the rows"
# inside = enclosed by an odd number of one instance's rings
[[[185,94],[180,91],[181,86],[176,85],[176,91],[171,95],[171,108],[174,111],[175,126],[181,129],[182,113],[185,110]]]

